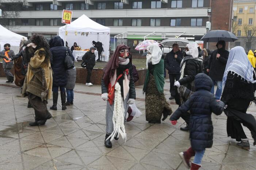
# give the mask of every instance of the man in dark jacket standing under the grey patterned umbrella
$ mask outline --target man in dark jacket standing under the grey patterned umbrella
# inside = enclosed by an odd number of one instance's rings
[[[170,79],[170,93],[171,97],[169,100],[174,99],[175,96],[175,80],[180,79],[180,62],[182,61],[183,53],[179,50],[178,44],[172,45],[171,52],[166,54],[164,59],[165,68],[168,70],[169,79]]]

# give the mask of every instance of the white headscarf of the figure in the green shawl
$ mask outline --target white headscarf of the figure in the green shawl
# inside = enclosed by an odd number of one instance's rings
[[[148,53],[147,54],[147,61],[146,61],[146,67],[148,68],[148,63],[150,61],[152,61],[152,64],[158,64],[158,62],[160,62],[161,58],[162,58],[162,50],[160,49],[160,47],[156,44],[151,44],[148,46]]]

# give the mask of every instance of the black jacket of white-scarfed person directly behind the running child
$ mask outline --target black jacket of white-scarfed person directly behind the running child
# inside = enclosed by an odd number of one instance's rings
[[[185,59],[186,58],[184,57],[184,60]],[[186,62],[186,66],[184,69],[184,77],[179,80],[180,85],[184,85],[194,81],[196,74],[202,73],[202,62],[194,60],[192,58],[184,62]]]

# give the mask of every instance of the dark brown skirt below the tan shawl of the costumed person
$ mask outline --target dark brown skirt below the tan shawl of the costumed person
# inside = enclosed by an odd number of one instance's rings
[[[40,97],[35,96],[32,93],[28,93],[28,101],[33,106],[35,110],[35,120],[45,120],[51,114],[47,110],[46,100],[42,101]]]

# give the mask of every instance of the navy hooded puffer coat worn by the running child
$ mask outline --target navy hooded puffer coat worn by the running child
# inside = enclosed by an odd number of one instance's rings
[[[224,109],[222,101],[217,102],[210,93],[213,82],[204,73],[195,76],[196,92],[181,105],[170,120],[178,120],[183,113],[190,110],[190,141],[193,150],[203,150],[213,145],[213,123],[211,113],[220,115]]]

